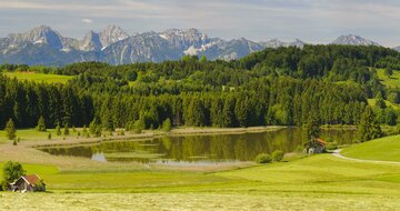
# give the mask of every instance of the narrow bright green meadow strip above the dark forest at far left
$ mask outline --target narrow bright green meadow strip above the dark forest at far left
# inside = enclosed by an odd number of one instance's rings
[[[24,81],[34,81],[38,83],[67,83],[72,79],[70,76],[60,76],[60,74],[44,74],[36,72],[6,72],[3,73],[9,78],[17,78],[18,80]]]

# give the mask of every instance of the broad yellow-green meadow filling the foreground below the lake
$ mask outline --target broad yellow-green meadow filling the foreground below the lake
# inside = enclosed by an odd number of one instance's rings
[[[399,139],[400,135],[362,143],[346,149],[343,154],[382,151],[386,153],[377,153],[374,159],[400,159],[396,155]],[[24,204],[31,204],[31,210],[397,210],[400,207],[400,164],[318,154],[290,162],[204,172],[53,157],[29,148],[28,143],[22,141],[16,148],[0,143],[0,160],[20,160],[28,173],[44,179],[50,193],[0,192],[0,210],[23,209]],[[17,152],[10,152],[13,149]],[[16,204],[16,200],[21,203]]]

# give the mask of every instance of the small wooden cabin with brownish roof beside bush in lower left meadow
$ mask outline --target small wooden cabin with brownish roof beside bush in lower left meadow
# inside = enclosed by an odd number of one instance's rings
[[[22,175],[10,183],[10,190],[20,192],[46,191],[46,184],[37,174]]]

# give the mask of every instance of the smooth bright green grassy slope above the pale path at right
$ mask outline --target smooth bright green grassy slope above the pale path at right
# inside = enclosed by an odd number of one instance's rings
[[[400,162],[400,135],[377,139],[344,149],[341,154],[363,160]]]

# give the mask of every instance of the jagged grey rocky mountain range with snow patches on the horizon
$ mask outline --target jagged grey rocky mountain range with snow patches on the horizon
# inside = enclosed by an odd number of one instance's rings
[[[331,43],[379,46],[354,34],[341,36]],[[50,27],[40,26],[24,33],[11,33],[0,38],[0,63],[66,66],[73,62],[101,61],[123,64],[178,60],[186,54],[206,56],[210,60],[232,60],[266,48],[302,48],[304,44],[299,39],[292,42],[278,39],[253,42],[244,38],[223,40],[210,38],[197,29],[128,34],[114,24],[100,32],[89,31],[82,40],[78,40],[63,37]],[[394,50],[400,50],[400,47]]]

